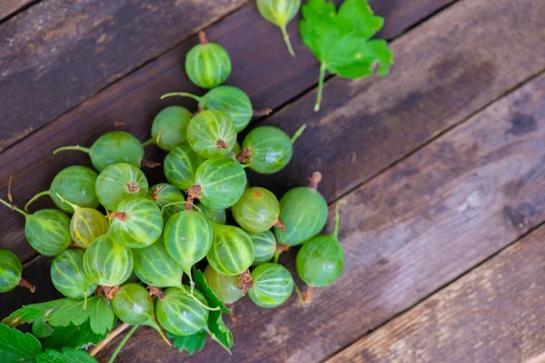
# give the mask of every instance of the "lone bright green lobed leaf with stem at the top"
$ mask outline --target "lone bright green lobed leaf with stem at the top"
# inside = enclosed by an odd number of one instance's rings
[[[383,24],[384,19],[373,15],[366,0],[345,0],[338,13],[332,2],[324,0],[302,5],[302,41],[321,63],[314,111],[320,109],[325,70],[346,78],[388,74],[393,64],[388,44],[370,40]]]

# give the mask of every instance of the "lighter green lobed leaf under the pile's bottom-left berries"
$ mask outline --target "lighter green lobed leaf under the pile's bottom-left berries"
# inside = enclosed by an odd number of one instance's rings
[[[54,327],[79,326],[87,319],[94,333],[104,335],[114,327],[115,315],[102,297],[95,296],[87,299],[86,309],[84,300],[64,299],[64,303],[47,316],[47,321]]]

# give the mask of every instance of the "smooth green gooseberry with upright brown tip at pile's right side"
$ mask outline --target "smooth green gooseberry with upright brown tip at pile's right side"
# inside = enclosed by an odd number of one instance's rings
[[[274,227],[279,243],[295,246],[322,231],[327,221],[327,202],[316,189],[322,180],[320,172],[312,174],[310,187],[297,187],[280,200],[280,220],[284,229]]]

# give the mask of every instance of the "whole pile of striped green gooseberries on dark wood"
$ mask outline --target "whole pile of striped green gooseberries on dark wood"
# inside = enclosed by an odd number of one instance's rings
[[[238,133],[253,116],[271,111],[254,112],[246,93],[222,85],[231,73],[230,56],[203,33],[200,40],[187,54],[185,71],[209,91],[162,97],[191,97],[198,102],[197,113],[177,105],[164,108],[146,142],[114,131],[88,148],[60,147],[54,153],[88,153],[94,170],[65,168],[24,210],[11,198],[1,201],[25,216],[32,248],[54,257],[55,289],[71,299],[104,296],[119,320],[150,326],[165,340],[163,330],[170,337],[207,330],[209,314],[217,309],[194,282],[197,268],[203,270],[207,289],[224,304],[247,294],[256,305],[275,308],[294,289],[299,294],[292,272],[278,263],[282,251],[302,245],[295,270],[308,285],[305,296],[300,294],[305,302],[312,288],[339,278],[344,261],[338,212],[333,234],[318,236],[328,217],[318,191],[319,172],[312,174],[309,186],[287,191],[280,201],[272,191],[250,186],[246,177],[245,168],[263,174],[282,170],[304,125],[292,137],[259,126],[239,144]],[[151,143],[168,152],[166,182],[152,186],[141,170],[157,164],[144,160],[144,146]],[[45,195],[58,210],[30,213],[30,204]],[[227,224],[227,211],[233,225]],[[0,292],[17,285],[34,290],[21,275],[15,254],[0,250]]]

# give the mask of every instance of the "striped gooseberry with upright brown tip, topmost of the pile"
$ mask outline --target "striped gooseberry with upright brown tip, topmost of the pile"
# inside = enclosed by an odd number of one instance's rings
[[[231,57],[221,45],[208,43],[204,32],[199,32],[199,40],[201,44],[185,56],[185,72],[199,87],[217,87],[231,74]]]

